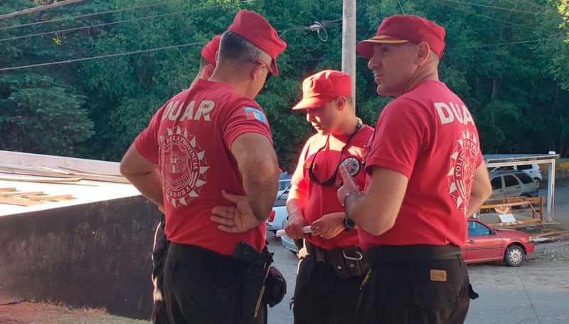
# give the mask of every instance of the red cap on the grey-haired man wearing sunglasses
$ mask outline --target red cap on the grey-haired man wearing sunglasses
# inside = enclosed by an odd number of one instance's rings
[[[269,54],[272,58],[271,72],[279,75],[277,56],[285,51],[287,43],[280,39],[279,34],[267,19],[254,11],[243,9],[235,15],[228,31],[233,31]]]

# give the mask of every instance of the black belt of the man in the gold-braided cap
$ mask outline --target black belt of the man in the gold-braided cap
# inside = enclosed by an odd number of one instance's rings
[[[462,256],[462,250],[454,244],[382,245],[363,251],[363,258],[370,266],[378,263],[449,260],[457,256]]]

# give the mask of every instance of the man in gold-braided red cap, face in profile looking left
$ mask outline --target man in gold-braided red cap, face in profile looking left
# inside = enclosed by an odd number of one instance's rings
[[[445,29],[418,16],[383,20],[358,43],[379,95],[365,192],[341,169],[338,199],[371,265],[354,323],[462,323],[469,285],[467,217],[491,194],[477,127],[440,82]]]

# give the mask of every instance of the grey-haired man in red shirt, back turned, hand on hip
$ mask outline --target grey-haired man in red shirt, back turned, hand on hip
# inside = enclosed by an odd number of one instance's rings
[[[245,301],[261,291],[248,282],[257,283],[252,263],[267,261],[260,251],[278,165],[267,117],[252,98],[278,74],[285,47],[265,18],[239,11],[211,78],[168,100],[122,159],[122,174],[165,211],[164,297],[173,323],[266,323],[266,305]],[[212,211],[235,204],[241,212],[228,217]]]

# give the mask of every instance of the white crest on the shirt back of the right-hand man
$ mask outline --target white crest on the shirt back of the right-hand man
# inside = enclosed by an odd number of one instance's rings
[[[450,170],[447,174],[449,194],[457,202],[457,209],[464,212],[464,216],[468,209],[464,201],[470,197],[479,150],[476,134],[464,130],[450,156]]]

